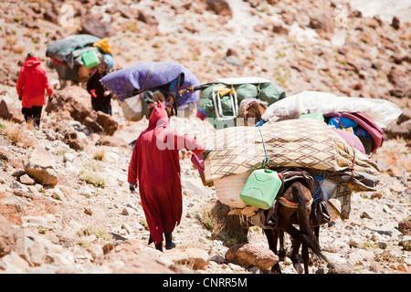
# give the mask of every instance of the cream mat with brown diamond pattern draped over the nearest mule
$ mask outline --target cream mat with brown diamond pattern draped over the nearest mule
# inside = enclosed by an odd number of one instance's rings
[[[321,120],[282,120],[266,123],[260,130],[270,168],[353,170],[375,176],[380,173],[372,159],[343,141]],[[197,137],[213,149],[205,159],[205,183],[262,167],[265,158],[262,137],[258,127],[231,127]]]

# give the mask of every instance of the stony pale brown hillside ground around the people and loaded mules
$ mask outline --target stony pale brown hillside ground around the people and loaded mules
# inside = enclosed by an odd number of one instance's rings
[[[411,272],[409,23],[399,16],[363,16],[339,1],[227,3],[70,1],[74,18],[68,24],[61,18],[67,16],[61,1],[0,4],[0,273],[262,270],[227,261],[227,235],[205,226],[216,193],[203,186],[184,152],[184,214],[174,232],[177,248],[162,254],[147,245],[139,194],[130,193],[126,182],[132,153],[128,143],[145,129],[147,120],[127,122],[117,102],[112,135],[92,133],[90,120],[70,112],[79,104],[90,109],[87,93],[79,87],[59,90],[57,73],[50,71],[57,99],[67,105],[58,111],[54,104],[40,130],[20,125],[15,85],[26,53],[36,50],[46,64],[42,52],[47,44],[78,32],[110,35],[115,68],[142,60],[174,61],[204,83],[216,77],[261,76],[278,83],[289,96],[310,89],[394,102],[403,115],[385,129],[385,144],[373,156],[382,170],[376,192],[353,193],[350,218],[321,226],[320,243],[339,273]],[[101,21],[98,28],[87,26],[93,14],[91,19]],[[69,96],[75,103],[68,102]],[[174,117],[171,122],[193,135],[209,127],[195,117]],[[76,137],[70,141],[72,132]],[[57,184],[33,182],[27,162],[50,165],[52,173],[43,178]],[[258,252],[268,246],[255,227],[249,229],[248,242]],[[289,238],[287,245],[290,250]],[[284,273],[296,273],[288,257],[280,266]],[[311,273],[316,272],[332,271],[314,262]]]

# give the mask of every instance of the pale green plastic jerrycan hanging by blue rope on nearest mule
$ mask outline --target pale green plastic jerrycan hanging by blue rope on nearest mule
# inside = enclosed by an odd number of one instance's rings
[[[251,172],[240,193],[244,203],[261,209],[269,209],[276,199],[282,181],[278,172],[256,170]]]

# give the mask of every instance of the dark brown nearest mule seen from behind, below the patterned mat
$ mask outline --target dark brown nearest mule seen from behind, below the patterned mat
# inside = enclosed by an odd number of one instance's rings
[[[294,268],[299,272],[309,274],[309,250],[317,255],[321,260],[328,263],[328,259],[321,252],[318,241],[319,227],[315,228],[315,233],[310,225],[312,197],[310,189],[300,181],[290,184],[290,187],[282,196],[278,198],[277,212],[278,225],[277,229],[264,229],[264,233],[269,242],[269,249],[279,257],[285,256],[284,249],[284,232],[292,238],[291,262]],[[297,229],[294,225],[299,225]],[[280,248],[277,251],[277,242],[279,240]],[[300,245],[304,269],[299,263]],[[272,267],[273,273],[280,273],[279,264]]]

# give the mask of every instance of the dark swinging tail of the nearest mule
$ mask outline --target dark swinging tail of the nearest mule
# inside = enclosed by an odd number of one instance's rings
[[[307,205],[304,200],[303,193],[297,189],[294,189],[293,192],[297,194],[299,201],[298,201],[298,212],[299,212],[299,225],[300,225],[300,233],[302,234],[302,243],[307,245],[309,249],[321,258],[323,261],[329,263],[327,257],[322,254],[320,244],[317,240],[317,237],[314,235],[310,225],[310,218],[307,214]]]

